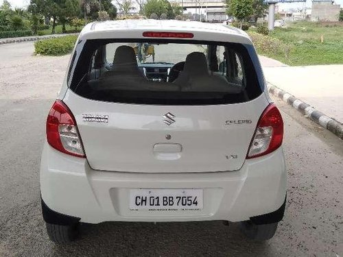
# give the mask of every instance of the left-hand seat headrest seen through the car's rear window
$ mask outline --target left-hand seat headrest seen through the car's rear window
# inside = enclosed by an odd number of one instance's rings
[[[138,64],[134,49],[127,45],[121,45],[115,51],[113,59],[113,71],[130,72],[137,70]]]

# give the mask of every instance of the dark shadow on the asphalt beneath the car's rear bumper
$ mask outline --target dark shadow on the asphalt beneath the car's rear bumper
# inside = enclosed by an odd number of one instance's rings
[[[54,256],[266,256],[270,243],[248,241],[222,221],[82,224],[82,235]]]

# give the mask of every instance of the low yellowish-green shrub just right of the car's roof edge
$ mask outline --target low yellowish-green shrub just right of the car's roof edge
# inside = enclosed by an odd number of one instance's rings
[[[248,32],[252,42],[261,55],[281,56],[289,58],[289,53],[292,50],[292,45],[286,44],[277,38],[265,36],[256,32]]]

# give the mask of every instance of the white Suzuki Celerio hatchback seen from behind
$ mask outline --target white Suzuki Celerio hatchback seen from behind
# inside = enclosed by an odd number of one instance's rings
[[[47,117],[40,167],[51,240],[103,221],[283,218],[283,119],[255,48],[234,27],[126,20],[86,25]]]

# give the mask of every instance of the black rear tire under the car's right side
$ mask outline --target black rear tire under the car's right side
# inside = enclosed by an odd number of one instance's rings
[[[278,227],[278,222],[270,224],[257,225],[251,221],[241,222],[241,232],[246,237],[255,241],[265,241],[272,238]]]

